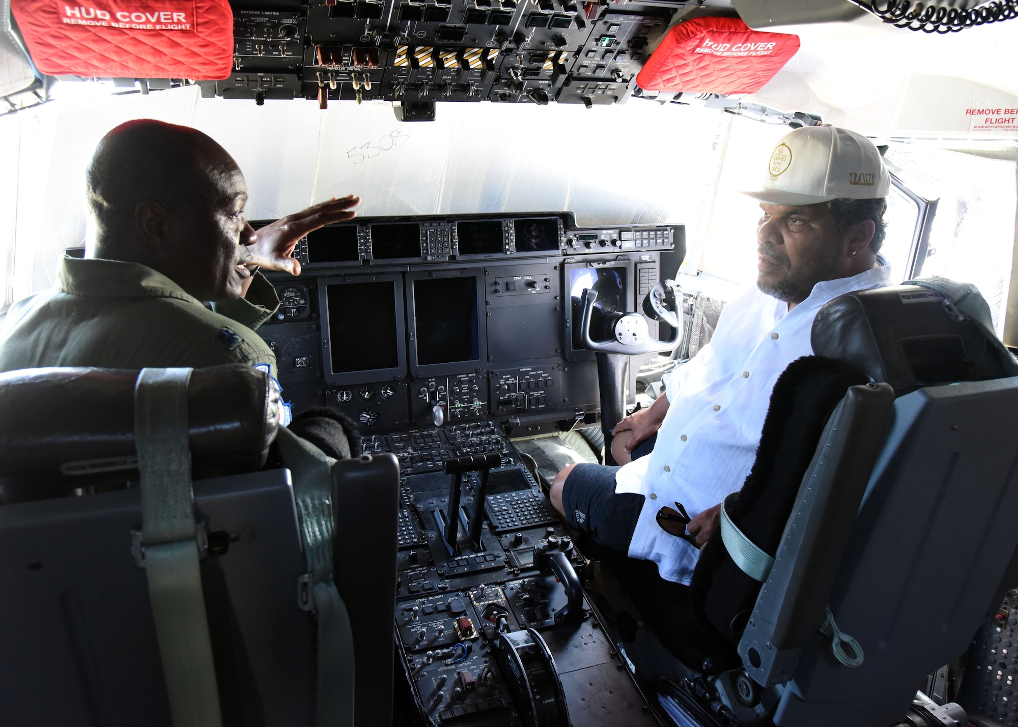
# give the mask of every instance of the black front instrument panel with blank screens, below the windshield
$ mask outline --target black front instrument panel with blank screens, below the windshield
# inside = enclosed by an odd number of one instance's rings
[[[259,333],[294,413],[331,406],[364,432],[575,420],[600,406],[572,299],[597,285],[633,311],[662,256],[684,251],[681,225],[563,213],[357,218],[300,241],[299,277],[269,274],[280,306]],[[605,271],[627,281],[614,297]]]

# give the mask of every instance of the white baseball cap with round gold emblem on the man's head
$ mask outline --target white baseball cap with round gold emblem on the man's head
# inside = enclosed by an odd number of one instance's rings
[[[891,175],[868,138],[830,124],[785,136],[768,160],[762,189],[743,192],[767,205],[814,205],[887,197]]]

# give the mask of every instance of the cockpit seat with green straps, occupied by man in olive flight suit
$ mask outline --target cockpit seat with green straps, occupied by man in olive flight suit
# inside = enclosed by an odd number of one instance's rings
[[[395,458],[278,405],[241,365],[0,375],[5,725],[389,723]]]

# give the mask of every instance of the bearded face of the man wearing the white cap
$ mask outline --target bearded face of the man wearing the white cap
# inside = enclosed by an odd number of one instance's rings
[[[822,280],[844,277],[847,245],[827,206],[760,205],[756,287],[779,300],[805,300]]]

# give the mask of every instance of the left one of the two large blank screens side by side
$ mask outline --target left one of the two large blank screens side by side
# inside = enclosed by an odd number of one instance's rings
[[[391,280],[329,285],[332,371],[395,369],[399,366],[396,290]]]

